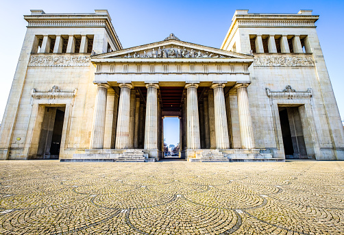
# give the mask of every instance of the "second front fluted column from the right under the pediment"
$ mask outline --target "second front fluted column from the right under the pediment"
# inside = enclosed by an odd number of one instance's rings
[[[215,135],[217,149],[229,149],[227,114],[225,111],[225,84],[212,84],[214,90]]]

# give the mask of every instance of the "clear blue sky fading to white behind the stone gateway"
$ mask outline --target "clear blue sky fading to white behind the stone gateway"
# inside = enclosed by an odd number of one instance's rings
[[[123,48],[163,40],[172,32],[186,42],[221,47],[236,9],[250,13],[297,13],[313,10],[319,14],[316,25],[334,94],[344,119],[343,52],[344,1],[5,1],[0,14],[0,120],[10,92],[16,63],[23,44],[27,22],[24,14],[30,9],[47,13],[93,13],[107,9]],[[178,127],[179,129],[179,127]],[[179,134],[177,134],[179,135]],[[179,141],[179,140],[178,140]],[[175,140],[167,143],[177,144]]]

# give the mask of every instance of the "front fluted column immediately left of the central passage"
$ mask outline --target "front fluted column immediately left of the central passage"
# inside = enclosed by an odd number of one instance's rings
[[[145,149],[158,149],[158,84],[146,84]]]

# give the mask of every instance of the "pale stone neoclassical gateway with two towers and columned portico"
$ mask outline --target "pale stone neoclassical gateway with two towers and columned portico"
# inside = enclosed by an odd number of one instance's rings
[[[31,12],[1,125],[2,160],[159,160],[165,116],[179,117],[189,161],[344,160],[310,10],[236,10],[221,49],[174,34],[123,49],[107,10]]]

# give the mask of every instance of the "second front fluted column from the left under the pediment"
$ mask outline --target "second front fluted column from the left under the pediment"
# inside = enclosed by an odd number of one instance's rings
[[[116,130],[116,149],[129,147],[129,121],[130,121],[130,89],[132,84],[119,84],[121,94],[119,96],[119,115]]]

